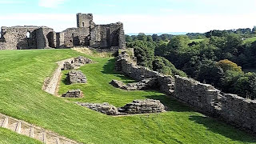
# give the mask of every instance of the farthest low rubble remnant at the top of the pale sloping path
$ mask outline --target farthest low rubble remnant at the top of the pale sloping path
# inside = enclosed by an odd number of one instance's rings
[[[79,56],[78,58],[74,58],[74,60],[71,62],[65,62],[62,70],[77,69],[80,66],[84,66],[85,64],[92,63],[92,62],[93,60],[91,60],[90,58]]]

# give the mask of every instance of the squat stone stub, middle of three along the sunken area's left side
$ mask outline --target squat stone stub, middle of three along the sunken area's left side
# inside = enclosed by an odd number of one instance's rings
[[[68,73],[67,78],[70,84],[87,82],[85,74],[83,74],[80,70],[71,70]]]

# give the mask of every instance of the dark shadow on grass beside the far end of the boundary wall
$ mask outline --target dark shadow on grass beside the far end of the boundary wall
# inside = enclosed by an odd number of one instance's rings
[[[136,82],[135,80],[132,80],[132,79],[128,78],[127,76],[123,75],[122,72],[115,71],[114,63],[115,63],[115,59],[110,59],[103,66],[103,70],[101,72],[103,74],[113,74],[114,76],[121,78],[122,82],[125,82],[125,83]]]

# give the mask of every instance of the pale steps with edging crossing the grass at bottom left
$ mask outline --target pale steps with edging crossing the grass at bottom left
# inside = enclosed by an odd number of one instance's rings
[[[46,144],[78,144],[78,142],[74,142],[73,140],[54,134],[54,132],[44,130],[41,127],[34,126],[15,118],[10,118],[4,114],[0,114],[0,126],[2,128],[13,130],[18,134],[35,138]]]

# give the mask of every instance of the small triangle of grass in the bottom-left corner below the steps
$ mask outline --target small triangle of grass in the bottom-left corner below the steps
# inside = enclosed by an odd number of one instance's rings
[[[42,142],[23,136],[21,134],[16,134],[11,130],[0,128],[0,143],[1,144],[10,144],[10,143],[40,144]]]

